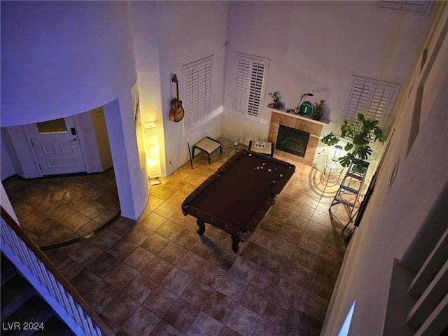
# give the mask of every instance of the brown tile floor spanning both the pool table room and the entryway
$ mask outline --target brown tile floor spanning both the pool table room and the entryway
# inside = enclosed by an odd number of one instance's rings
[[[348,216],[342,205],[328,211],[337,186],[291,162],[295,175],[233,253],[229,235],[206,225],[199,237],[195,218],[181,212],[230,154],[211,165],[197,155],[195,169],[187,162],[151,186],[137,221],[120,217],[90,239],[45,251],[116,335],[319,335],[345,251]],[[38,246],[83,236],[118,207],[112,170],[31,182],[3,185]]]

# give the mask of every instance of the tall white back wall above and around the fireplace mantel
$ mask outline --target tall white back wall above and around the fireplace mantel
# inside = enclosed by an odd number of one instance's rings
[[[323,135],[342,118],[352,75],[404,83],[430,18],[374,11],[373,3],[230,1],[223,132],[247,143],[245,134],[266,139],[269,129],[231,113],[236,51],[270,59],[267,92],[279,91],[287,108],[304,92],[314,93],[312,102],[326,100],[323,118],[331,123]],[[266,94],[263,106],[271,101]],[[270,110],[262,109],[261,118],[269,120]]]

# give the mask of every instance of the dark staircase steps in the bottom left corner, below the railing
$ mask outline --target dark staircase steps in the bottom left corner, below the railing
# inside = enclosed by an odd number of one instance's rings
[[[2,336],[75,335],[3,253],[0,333]]]

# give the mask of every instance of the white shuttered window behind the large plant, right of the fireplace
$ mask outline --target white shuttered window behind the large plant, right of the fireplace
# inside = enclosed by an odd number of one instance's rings
[[[381,80],[353,76],[344,107],[344,120],[356,122],[358,113],[379,120],[383,127],[400,90],[400,85]]]

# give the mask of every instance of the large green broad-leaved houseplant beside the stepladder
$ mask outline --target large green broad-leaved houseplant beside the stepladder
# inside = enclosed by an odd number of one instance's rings
[[[335,135],[333,132],[321,139],[323,144],[335,146],[339,140],[346,141],[344,147],[346,155],[339,158],[339,163],[343,167],[348,167],[351,160],[365,160],[372,154],[370,147],[377,141],[383,142],[383,130],[378,126],[378,120],[370,120],[358,113],[357,122],[345,120],[341,125],[341,134]]]

